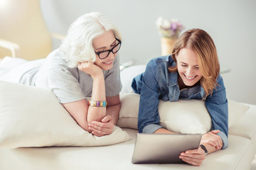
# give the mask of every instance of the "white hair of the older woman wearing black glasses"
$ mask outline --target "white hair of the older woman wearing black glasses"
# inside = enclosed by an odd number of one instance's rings
[[[76,19],[68,28],[68,35],[60,45],[68,62],[68,67],[78,67],[79,62],[95,62],[95,50],[92,47],[92,40],[112,30],[115,38],[122,40],[119,30],[113,21],[99,12],[86,13]]]

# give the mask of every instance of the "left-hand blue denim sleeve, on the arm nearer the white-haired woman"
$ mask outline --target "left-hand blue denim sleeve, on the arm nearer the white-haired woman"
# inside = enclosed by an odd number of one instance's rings
[[[135,77],[132,82],[134,92],[140,94],[139,99],[139,132],[153,132],[158,128],[152,128],[154,125],[159,127],[159,93],[158,75],[159,67],[154,60],[151,60],[146,66],[143,74]],[[150,125],[149,127],[147,125]],[[148,127],[144,130],[145,127]],[[151,128],[150,128],[151,127]]]

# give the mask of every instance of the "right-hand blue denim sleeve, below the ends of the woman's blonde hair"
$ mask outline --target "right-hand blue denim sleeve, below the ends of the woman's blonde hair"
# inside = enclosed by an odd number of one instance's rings
[[[206,98],[206,108],[212,120],[211,130],[220,130],[218,135],[223,140],[223,147],[228,147],[228,100],[222,77],[218,77],[218,85],[212,96]]]

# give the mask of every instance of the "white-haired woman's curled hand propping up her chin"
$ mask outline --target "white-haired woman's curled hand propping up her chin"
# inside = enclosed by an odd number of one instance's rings
[[[82,72],[89,74],[92,79],[95,79],[97,76],[103,75],[102,69],[95,65],[93,62],[79,62],[78,69]]]

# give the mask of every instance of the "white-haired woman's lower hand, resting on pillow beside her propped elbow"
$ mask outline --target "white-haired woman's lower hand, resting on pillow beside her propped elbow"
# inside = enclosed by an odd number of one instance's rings
[[[112,117],[110,115],[106,115],[102,118],[102,122],[92,121],[89,123],[89,130],[92,131],[92,134],[98,137],[104,135],[110,135],[113,132],[114,123],[111,121]]]

